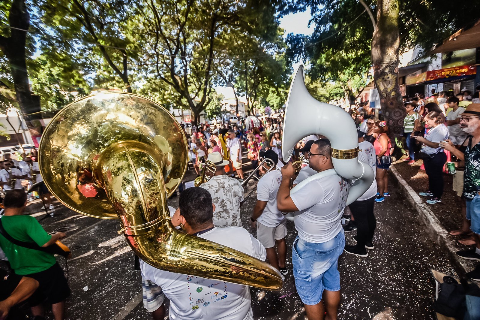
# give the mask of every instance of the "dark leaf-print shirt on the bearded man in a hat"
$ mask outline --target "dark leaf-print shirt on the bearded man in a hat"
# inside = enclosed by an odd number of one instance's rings
[[[465,182],[463,195],[467,199],[473,199],[480,191],[480,143],[473,146],[470,151],[470,140],[465,150]]]

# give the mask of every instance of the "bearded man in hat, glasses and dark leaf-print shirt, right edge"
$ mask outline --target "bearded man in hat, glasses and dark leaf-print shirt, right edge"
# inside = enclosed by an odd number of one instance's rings
[[[468,134],[467,149],[463,154],[448,142],[440,145],[451,151],[460,160],[465,160],[463,196],[467,204],[467,219],[470,221],[470,230],[473,232],[475,248],[457,251],[457,256],[480,261],[480,103],[472,103],[460,116],[460,128]],[[480,281],[480,265],[468,272],[467,277]]]

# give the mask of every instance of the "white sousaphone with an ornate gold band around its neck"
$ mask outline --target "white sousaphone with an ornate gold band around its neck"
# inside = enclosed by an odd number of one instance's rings
[[[297,69],[290,85],[283,128],[282,156],[287,161],[292,156],[294,146],[308,135],[324,135],[330,140],[336,173],[345,179],[355,180],[348,193],[347,205],[357,200],[372,185],[372,168],[358,160],[359,144],[355,122],[342,108],[320,102],[310,95],[305,86],[303,65]],[[314,174],[296,185],[290,194],[310,181],[330,174],[331,171]],[[287,218],[292,220],[295,214],[289,213]]]

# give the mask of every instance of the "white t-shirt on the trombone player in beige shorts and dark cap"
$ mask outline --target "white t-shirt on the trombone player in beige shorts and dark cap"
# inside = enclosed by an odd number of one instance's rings
[[[257,184],[257,200],[266,201],[264,212],[257,219],[264,226],[274,228],[285,220],[285,216],[276,207],[276,193],[282,182],[282,172],[272,170],[265,174]]]

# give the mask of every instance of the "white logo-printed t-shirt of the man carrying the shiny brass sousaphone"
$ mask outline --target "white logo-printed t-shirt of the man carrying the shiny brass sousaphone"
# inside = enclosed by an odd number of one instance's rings
[[[228,246],[262,261],[266,250],[247,230],[217,228],[199,237]],[[156,283],[170,299],[171,320],[253,320],[246,285],[163,271],[140,260],[142,277]]]

